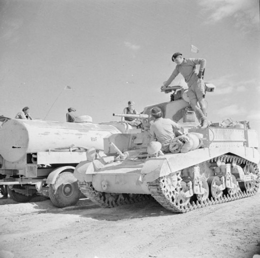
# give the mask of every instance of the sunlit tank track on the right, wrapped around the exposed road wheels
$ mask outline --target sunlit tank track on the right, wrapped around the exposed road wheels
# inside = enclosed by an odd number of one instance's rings
[[[241,191],[239,189],[235,194],[232,194],[231,196],[226,194],[226,195],[215,197],[215,198],[212,198],[212,197],[210,199],[207,198],[206,200],[203,200],[203,201],[196,200],[196,201],[191,201],[191,202],[188,202],[185,204],[180,204],[176,200],[176,198],[174,198],[174,201],[170,201],[169,198],[167,198],[165,196],[165,194],[164,194],[165,192],[163,192],[162,187],[161,187],[162,178],[160,177],[154,181],[148,182],[148,188],[149,188],[149,191],[150,191],[152,197],[156,201],[158,201],[164,208],[166,208],[172,212],[184,213],[184,212],[188,212],[188,211],[191,211],[194,209],[206,207],[209,205],[214,205],[214,204],[218,204],[218,203],[223,203],[223,202],[227,202],[227,201],[232,201],[232,200],[236,200],[236,199],[240,199],[240,198],[249,197],[249,196],[254,195],[257,192],[258,184],[259,184],[259,170],[255,163],[252,163],[246,159],[243,159],[243,158],[235,156],[235,155],[227,155],[227,154],[213,158],[210,161],[216,161],[216,160],[220,160],[223,162],[235,161],[237,164],[253,165],[255,174],[257,176],[255,185],[253,186],[253,188],[250,189],[249,191],[248,190]],[[180,177],[180,172],[177,175],[177,180],[178,180],[178,182],[180,182],[182,180]],[[177,183],[176,188],[173,190],[173,195],[175,195],[179,191],[179,188],[180,188],[180,183]]]

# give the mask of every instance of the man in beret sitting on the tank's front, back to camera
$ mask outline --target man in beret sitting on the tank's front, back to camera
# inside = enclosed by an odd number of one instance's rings
[[[151,141],[159,141],[161,151],[169,152],[169,143],[181,127],[169,118],[162,118],[161,109],[157,106],[151,109],[151,116],[153,118],[153,123],[150,125]]]

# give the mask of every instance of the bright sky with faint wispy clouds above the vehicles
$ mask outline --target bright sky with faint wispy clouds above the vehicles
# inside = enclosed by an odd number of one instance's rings
[[[99,123],[128,100],[141,112],[169,101],[179,51],[206,59],[208,119],[249,120],[260,137],[259,30],[259,0],[0,0],[0,114],[65,121],[72,106]]]

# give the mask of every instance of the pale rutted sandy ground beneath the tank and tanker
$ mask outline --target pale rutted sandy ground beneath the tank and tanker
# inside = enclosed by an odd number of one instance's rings
[[[56,208],[41,196],[0,199],[0,257],[256,257],[259,206],[260,193],[185,214],[155,201]]]

